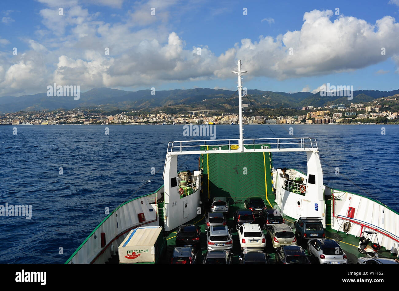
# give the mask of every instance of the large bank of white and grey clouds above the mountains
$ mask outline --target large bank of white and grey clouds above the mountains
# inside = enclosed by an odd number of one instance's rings
[[[313,10],[304,14],[300,30],[276,38],[261,36],[257,41],[242,39],[220,55],[203,44],[198,55],[196,47],[186,47],[184,34],[164,25],[169,10],[180,5],[177,0],[138,3],[121,22],[113,24],[99,21],[98,13],[90,13],[74,1],[64,3],[63,16],[58,15],[56,1],[41,2],[53,7],[40,10],[45,26],[36,31],[40,41],[27,39],[31,50],[23,59],[16,62],[11,56],[0,63],[0,96],[18,88],[21,92],[44,92],[38,89],[40,82],[39,88],[56,81],[88,90],[233,78],[237,59],[249,71],[246,79],[283,80],[354,71],[390,57],[399,67],[399,24],[391,16],[369,24],[349,16],[331,21],[331,10]],[[149,18],[151,7],[156,8],[155,18]],[[141,24],[156,24],[138,26],[126,16],[140,18]],[[0,39],[0,44],[6,42]],[[105,47],[109,55],[105,55]],[[386,55],[381,55],[381,47]],[[22,70],[24,83],[16,79],[17,68]],[[311,88],[307,85],[302,90]]]

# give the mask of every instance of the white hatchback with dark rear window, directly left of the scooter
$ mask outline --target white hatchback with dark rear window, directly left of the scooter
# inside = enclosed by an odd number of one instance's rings
[[[321,264],[346,264],[348,258],[336,240],[315,239],[308,241],[308,254]]]

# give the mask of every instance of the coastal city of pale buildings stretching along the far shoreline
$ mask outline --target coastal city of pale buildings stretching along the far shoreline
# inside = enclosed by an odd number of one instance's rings
[[[251,104],[243,104],[244,124],[348,124],[399,123],[399,96],[378,98],[367,103],[306,106],[295,108],[297,115],[256,115]],[[384,104],[386,103],[386,104]],[[282,108],[280,108],[281,110]],[[291,109],[291,108],[287,108]],[[396,110],[395,110],[396,109]],[[271,112],[277,109],[269,109]],[[237,124],[238,114],[221,110],[193,110],[185,113],[162,111],[143,114],[143,110],[99,112],[92,109],[52,110],[49,112],[15,112],[0,114],[1,125],[56,124]]]

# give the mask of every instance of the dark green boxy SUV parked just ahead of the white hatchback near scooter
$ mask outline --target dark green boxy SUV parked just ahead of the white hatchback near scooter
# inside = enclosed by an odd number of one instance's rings
[[[319,217],[300,217],[295,221],[295,234],[298,240],[324,238],[324,228]]]

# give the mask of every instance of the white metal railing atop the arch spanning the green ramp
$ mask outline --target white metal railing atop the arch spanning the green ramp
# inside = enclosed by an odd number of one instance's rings
[[[239,139],[229,140],[182,140],[168,143],[168,153],[183,151],[217,151],[238,149]],[[315,138],[251,138],[244,139],[246,151],[253,149],[317,149]]]

